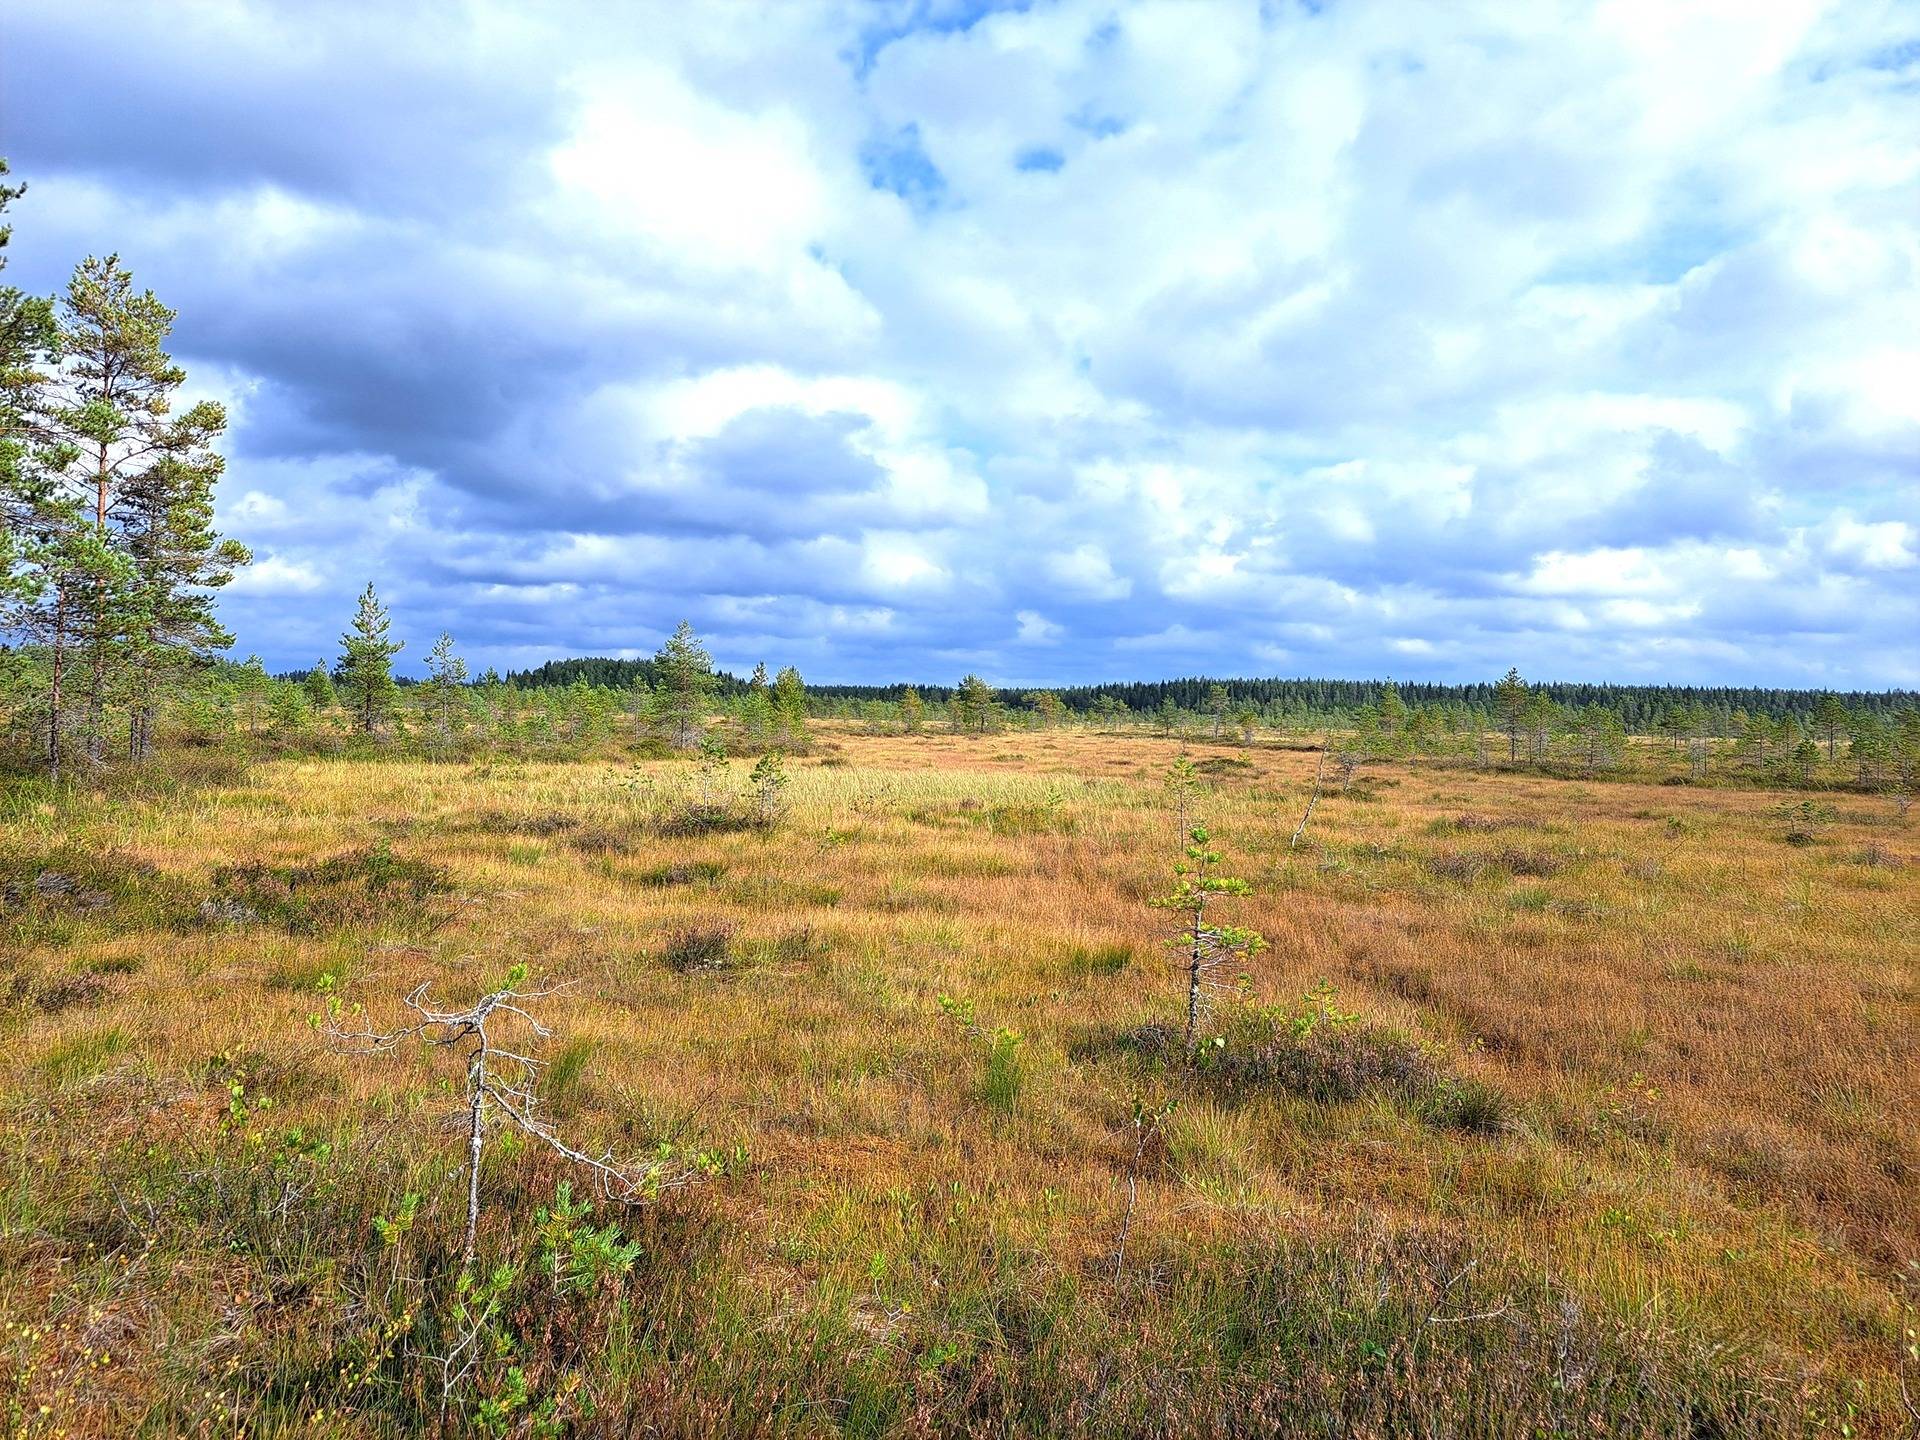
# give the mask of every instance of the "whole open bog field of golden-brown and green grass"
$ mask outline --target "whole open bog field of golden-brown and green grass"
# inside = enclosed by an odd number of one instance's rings
[[[1269,941],[1219,1048],[1265,1069],[1156,1044],[1185,1004],[1148,906],[1165,741],[829,733],[780,826],[691,837],[659,824],[676,762],[17,791],[0,1413],[1903,1432],[1920,841],[1891,803],[1824,797],[1789,845],[1763,791],[1371,766],[1288,851],[1311,751],[1188,753],[1254,889],[1221,914]],[[499,1279],[463,1286],[459,1060],[344,1056],[309,1018],[332,987],[386,1023],[516,962],[564,981],[530,1006],[561,1131],[712,1173],[568,1219],[568,1167],[495,1142]]]

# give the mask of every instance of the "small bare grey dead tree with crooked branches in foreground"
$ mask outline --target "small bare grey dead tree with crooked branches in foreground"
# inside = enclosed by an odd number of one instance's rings
[[[553,1127],[540,1116],[538,1081],[543,1062],[501,1044],[497,1031],[518,1025],[534,1041],[553,1035],[540,1020],[530,1016],[522,1002],[543,1000],[561,987],[522,991],[526,966],[513,966],[507,979],[493,991],[482,995],[465,1010],[436,1010],[426,1000],[432,981],[420,981],[401,1004],[419,1020],[394,1029],[348,1027],[348,1016],[357,1016],[359,1006],[342,1006],[338,996],[330,996],[324,1018],[317,1018],[321,1033],[328,1043],[349,1054],[388,1054],[407,1041],[419,1041],[430,1048],[467,1050],[467,1236],[463,1263],[472,1265],[480,1233],[480,1158],[486,1148],[488,1129],[505,1119],[522,1135],[528,1135],[549,1150],[589,1171],[599,1183],[601,1194],[618,1204],[639,1204],[657,1198],[662,1190],[687,1185],[701,1173],[699,1164],[672,1165],[666,1160],[620,1164],[607,1150],[591,1156],[566,1144]],[[499,1119],[495,1117],[495,1114]]]

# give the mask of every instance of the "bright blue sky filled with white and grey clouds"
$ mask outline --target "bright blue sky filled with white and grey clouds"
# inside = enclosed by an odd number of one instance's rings
[[[1920,684],[1920,0],[8,0],[236,653]]]

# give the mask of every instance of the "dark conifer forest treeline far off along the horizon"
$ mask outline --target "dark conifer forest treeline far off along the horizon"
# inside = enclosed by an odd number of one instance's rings
[[[653,684],[653,660],[547,660],[532,670],[516,670],[507,676],[515,685],[570,685],[584,680],[589,685],[611,685],[626,689],[636,680]],[[1296,714],[1344,714],[1361,707],[1379,705],[1386,693],[1384,680],[1212,680],[1192,676],[1187,680],[1125,680],[1106,685],[1069,685],[1054,689],[1062,705],[1087,714],[1125,705],[1133,712],[1152,712],[1164,708],[1200,712],[1208,707],[1208,691],[1221,685],[1229,705],[1254,705],[1263,712]],[[720,691],[741,689],[745,682],[720,674]],[[1494,682],[1471,685],[1434,685],[1423,682],[1394,682],[1400,699],[1407,705],[1444,705],[1467,710],[1494,712]],[[945,705],[952,699],[956,685],[912,685],[927,705]],[[1709,712],[1764,714],[1770,720],[1793,718],[1803,724],[1812,720],[1820,699],[1836,693],[1855,714],[1891,716],[1897,710],[1920,705],[1920,691],[1910,689],[1782,689],[1764,685],[1607,685],[1572,682],[1538,682],[1530,689],[1546,695],[1555,705],[1569,708],[1603,705],[1615,710],[1632,732],[1651,732],[1661,718],[1693,705]],[[899,703],[908,685],[820,685],[808,682],[806,693],[820,701],[885,701]],[[996,689],[995,701],[1010,708],[1031,708],[1035,689]]]

